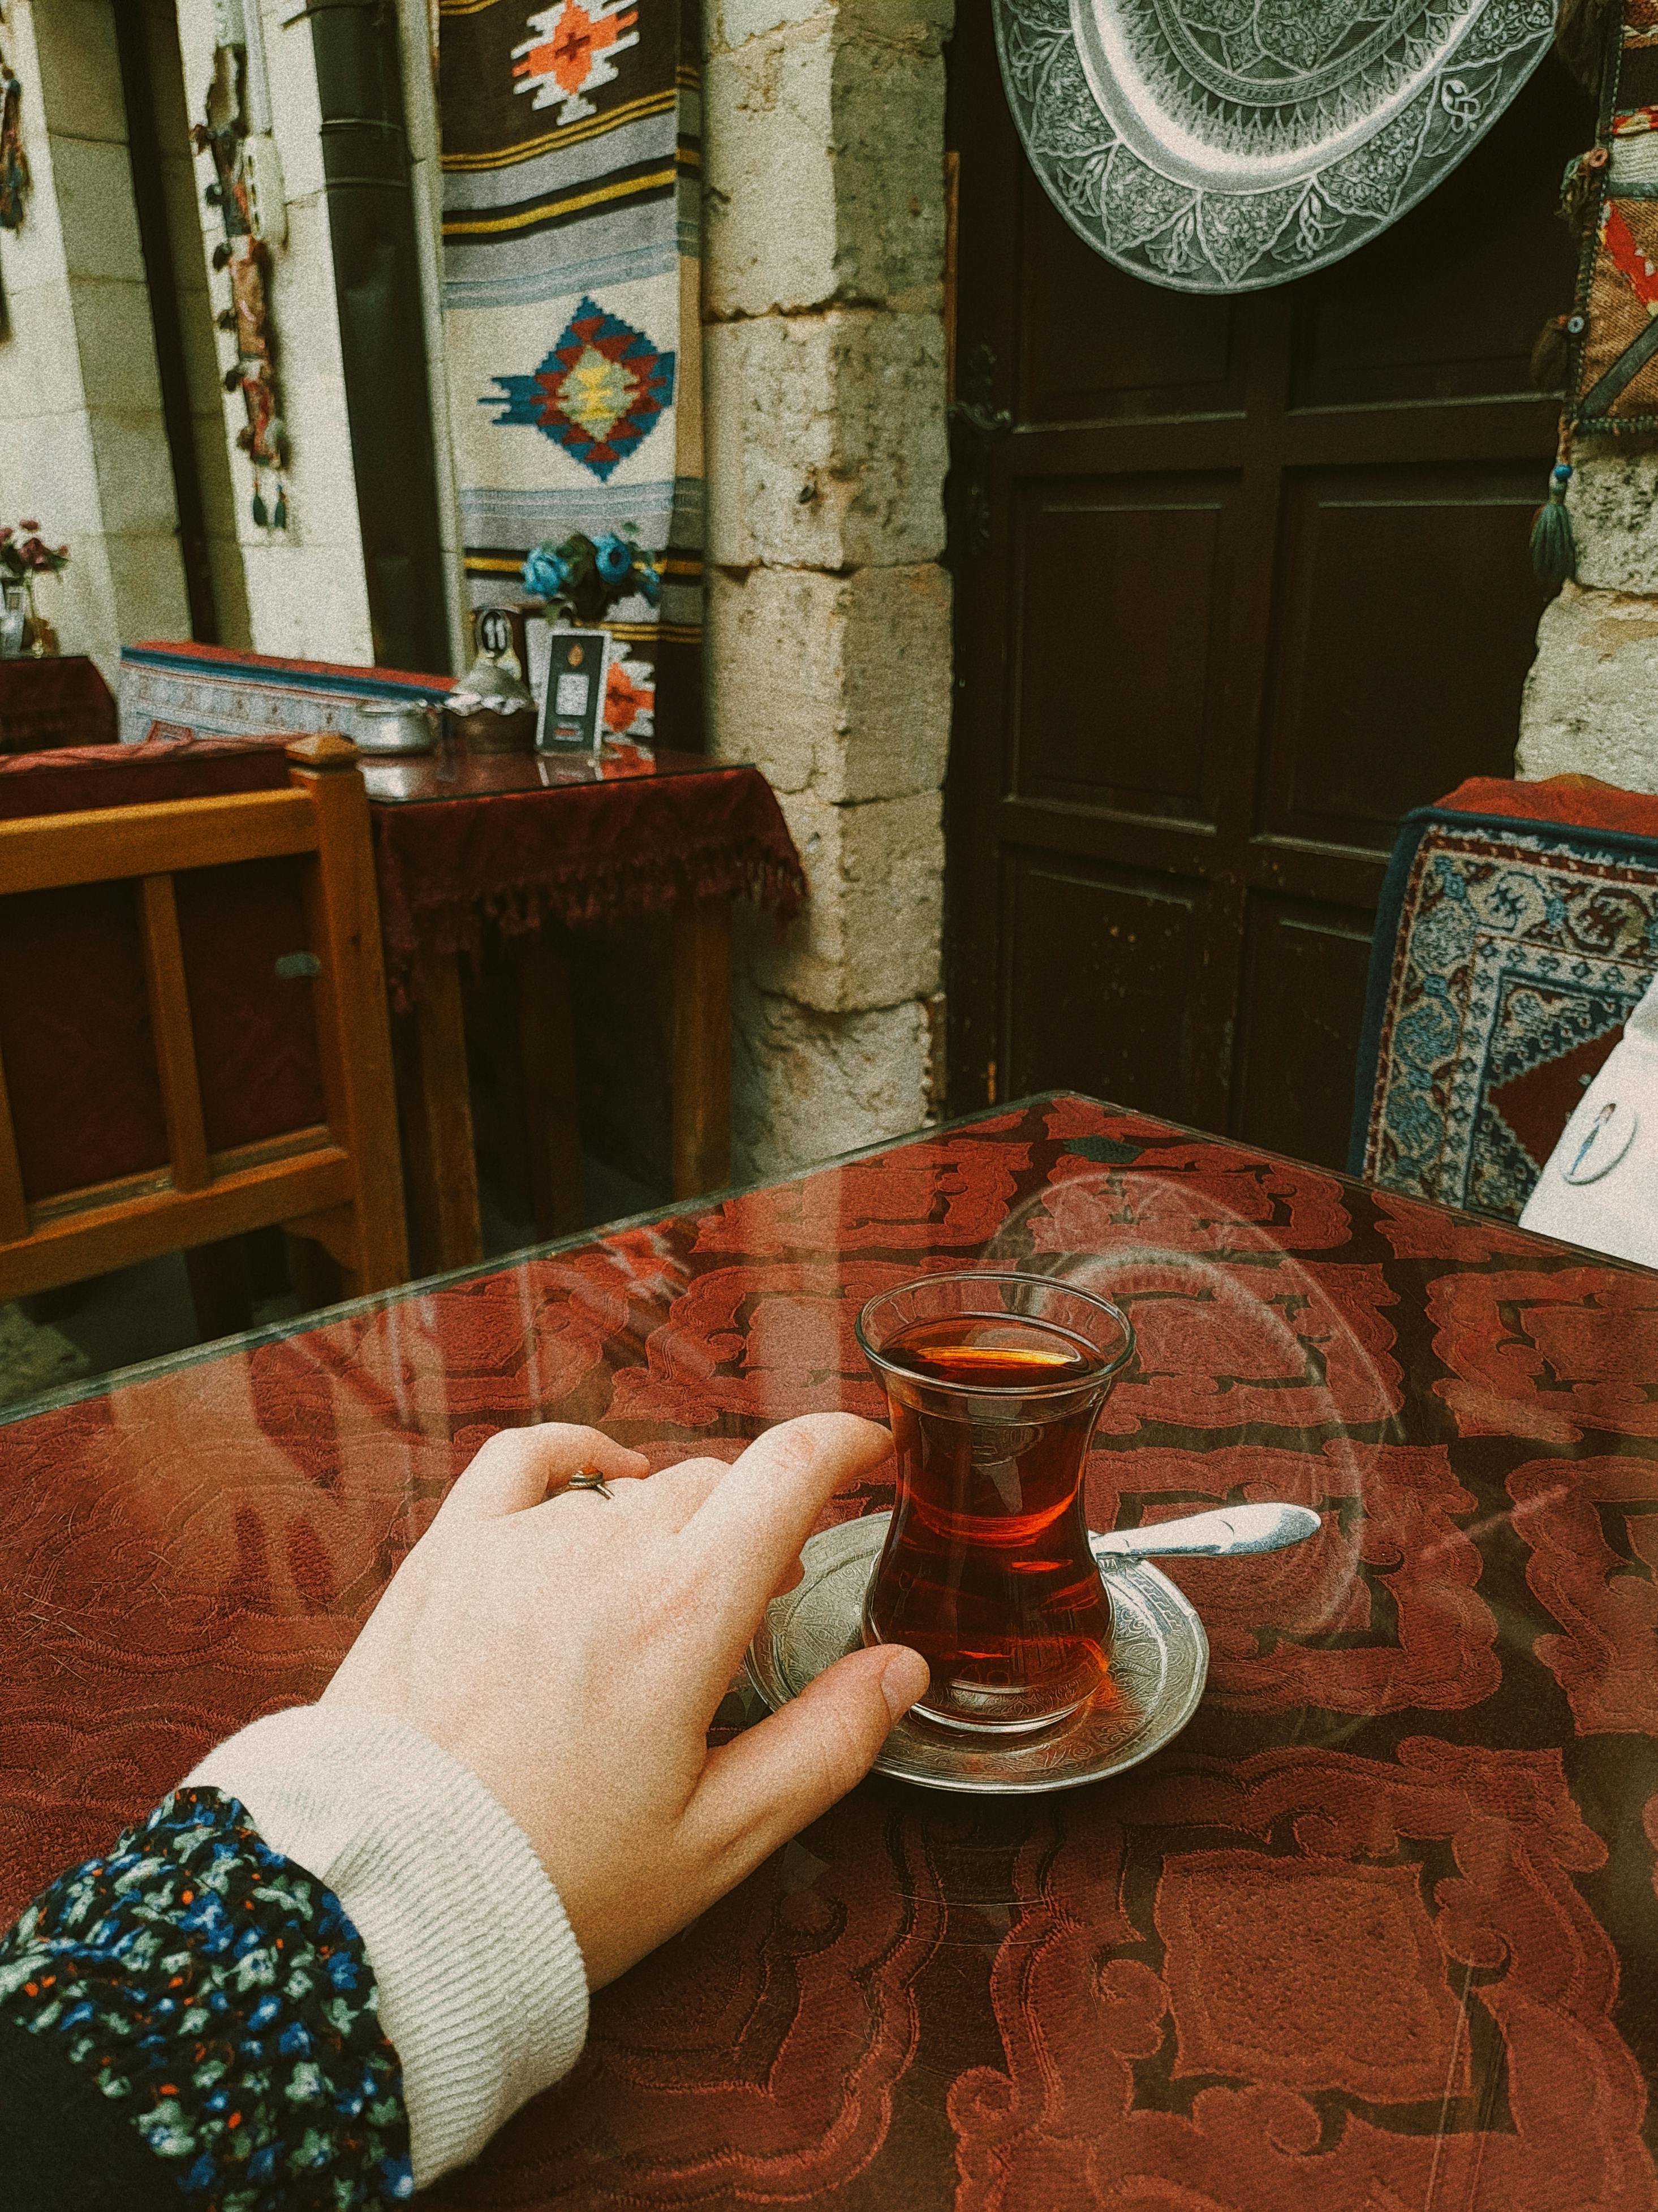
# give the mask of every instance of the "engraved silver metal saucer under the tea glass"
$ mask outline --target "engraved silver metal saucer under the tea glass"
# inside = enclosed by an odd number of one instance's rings
[[[747,1674],[774,1712],[862,1646],[864,1590],[889,1520],[891,1513],[867,1513],[814,1535],[800,1553],[805,1582],[767,1606],[747,1650]],[[1101,1559],[1101,1575],[1112,1593],[1110,1688],[1039,1734],[993,1745],[931,1721],[900,1721],[875,1772],[924,1790],[1024,1796],[1121,1774],[1178,1736],[1209,1672],[1203,1621],[1145,1559]]]

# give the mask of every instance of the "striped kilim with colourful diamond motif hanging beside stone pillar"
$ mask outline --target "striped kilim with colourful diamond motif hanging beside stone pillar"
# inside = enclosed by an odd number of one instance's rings
[[[442,0],[444,352],[466,582],[524,597],[524,555],[634,538],[661,608],[623,599],[632,692],[699,743],[703,456],[699,31],[692,0]]]

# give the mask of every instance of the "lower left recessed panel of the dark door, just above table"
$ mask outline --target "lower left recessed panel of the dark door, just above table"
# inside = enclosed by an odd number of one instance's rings
[[[1008,1095],[1066,1086],[1176,1113],[1205,905],[1200,883],[1008,854]]]

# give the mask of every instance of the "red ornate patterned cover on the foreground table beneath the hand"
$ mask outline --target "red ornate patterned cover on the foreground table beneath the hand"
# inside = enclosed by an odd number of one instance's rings
[[[856,1790],[436,2201],[1651,2212],[1658,1274],[1079,1097],[0,1427],[0,1913],[316,1697],[493,1429],[880,1416],[858,1305],[964,1263],[1134,1316],[1094,1526],[1322,1537],[1172,1564],[1214,1659],[1156,1759]]]

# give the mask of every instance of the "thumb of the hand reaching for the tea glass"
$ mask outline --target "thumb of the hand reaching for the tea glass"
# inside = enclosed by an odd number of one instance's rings
[[[902,1644],[849,1652],[769,1721],[710,1752],[688,1820],[718,1867],[721,1889],[869,1774],[926,1681],[926,1661]]]

